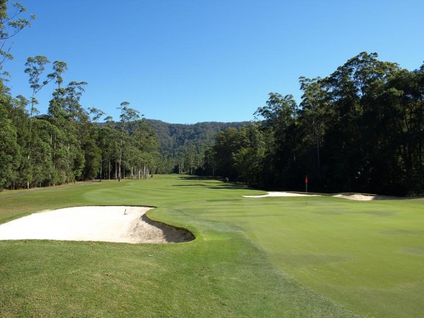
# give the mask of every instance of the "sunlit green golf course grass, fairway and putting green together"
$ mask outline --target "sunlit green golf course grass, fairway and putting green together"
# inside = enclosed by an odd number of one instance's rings
[[[424,199],[243,198],[190,176],[0,194],[0,223],[149,205],[174,244],[0,241],[1,317],[421,317]]]

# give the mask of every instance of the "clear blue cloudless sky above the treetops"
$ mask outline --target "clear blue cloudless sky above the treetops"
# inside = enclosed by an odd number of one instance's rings
[[[253,120],[268,93],[325,77],[362,51],[409,70],[424,61],[423,0],[20,0],[37,15],[15,38],[13,96],[30,98],[27,57],[68,64],[88,82],[85,109],[118,120],[121,102],[145,118],[190,124]],[[53,84],[37,96],[46,113]]]

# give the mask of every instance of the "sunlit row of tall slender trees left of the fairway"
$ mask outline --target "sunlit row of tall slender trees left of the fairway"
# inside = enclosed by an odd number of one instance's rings
[[[12,59],[10,39],[30,25],[26,8],[0,0],[0,69]],[[12,97],[0,79],[0,190],[60,185],[92,178],[147,178],[156,169],[156,133],[138,111],[122,102],[120,120],[80,104],[86,82],[63,84],[65,62],[53,64],[44,56],[28,57],[25,64],[32,95]],[[50,73],[47,73],[47,69]],[[50,84],[51,83],[51,84]],[[53,84],[46,115],[38,115],[37,93]]]

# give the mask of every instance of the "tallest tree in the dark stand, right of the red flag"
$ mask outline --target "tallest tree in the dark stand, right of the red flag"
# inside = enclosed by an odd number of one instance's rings
[[[338,185],[343,191],[372,191],[369,182],[376,178],[380,142],[385,143],[381,118],[376,117],[380,107],[376,96],[398,65],[377,57],[376,53],[362,52],[323,80],[333,108],[324,138],[331,146],[324,149],[326,160],[333,163],[327,184]]]

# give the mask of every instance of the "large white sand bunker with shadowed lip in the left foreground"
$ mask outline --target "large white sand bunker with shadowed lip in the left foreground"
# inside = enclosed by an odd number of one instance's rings
[[[46,239],[119,243],[192,241],[185,230],[145,216],[151,207],[68,207],[39,212],[0,225],[0,240]]]

